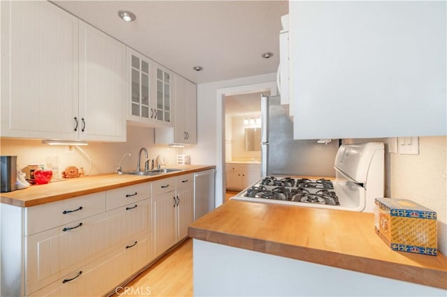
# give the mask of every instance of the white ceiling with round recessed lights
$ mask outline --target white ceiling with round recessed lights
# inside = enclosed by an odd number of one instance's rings
[[[288,13],[288,1],[52,2],[196,84],[275,73]],[[135,22],[118,10],[135,13]]]

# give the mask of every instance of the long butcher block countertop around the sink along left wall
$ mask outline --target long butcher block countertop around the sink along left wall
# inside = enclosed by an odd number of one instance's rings
[[[64,181],[47,183],[45,185],[31,185],[31,187],[15,190],[13,192],[1,193],[1,203],[19,207],[36,206],[40,204],[60,201],[81,195],[103,192],[122,188],[127,185],[136,185],[147,181],[156,181],[171,176],[190,174],[207,169],[214,169],[210,165],[175,165],[168,168],[182,169],[178,172],[159,174],[156,176],[136,176],[131,174],[98,174],[95,176],[84,176],[81,178],[70,178]]]

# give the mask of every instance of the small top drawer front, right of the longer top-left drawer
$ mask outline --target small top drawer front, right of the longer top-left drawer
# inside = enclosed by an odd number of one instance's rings
[[[150,197],[151,183],[140,183],[138,185],[129,185],[128,187],[108,190],[106,192],[105,208],[110,211],[111,209]]]

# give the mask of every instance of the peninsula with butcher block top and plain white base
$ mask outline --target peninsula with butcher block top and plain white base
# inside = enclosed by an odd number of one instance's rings
[[[189,236],[196,296],[446,296],[446,257],[390,250],[372,213],[230,200]]]

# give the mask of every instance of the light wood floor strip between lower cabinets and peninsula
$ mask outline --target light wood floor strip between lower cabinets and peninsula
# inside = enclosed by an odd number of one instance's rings
[[[175,250],[123,286],[123,290],[118,292],[120,295],[112,296],[193,296],[192,239],[186,239]]]

